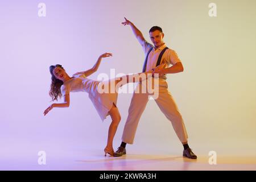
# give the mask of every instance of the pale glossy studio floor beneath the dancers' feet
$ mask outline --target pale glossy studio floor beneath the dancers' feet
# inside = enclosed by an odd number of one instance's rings
[[[1,154],[1,170],[256,170],[256,155],[217,156],[217,164],[210,165],[207,155],[187,159],[181,155],[146,154],[145,151],[130,152],[119,158],[104,156],[101,150],[46,151],[46,165],[39,165],[35,153],[22,152]]]

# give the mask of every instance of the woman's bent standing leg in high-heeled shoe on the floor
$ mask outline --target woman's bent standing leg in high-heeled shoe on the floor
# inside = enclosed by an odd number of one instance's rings
[[[114,154],[113,139],[114,139],[115,133],[117,131],[119,122],[121,121],[121,115],[118,111],[118,108],[114,104],[112,106],[112,109],[109,110],[109,115],[112,118],[112,122],[109,126],[108,143],[104,149],[105,156],[106,156],[106,154],[110,154],[110,155]]]

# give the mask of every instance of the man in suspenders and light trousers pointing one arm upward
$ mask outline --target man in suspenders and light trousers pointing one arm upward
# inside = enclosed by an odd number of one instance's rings
[[[153,73],[159,74],[159,95],[155,101],[163,114],[166,115],[167,119],[171,121],[177,137],[183,144],[183,156],[189,159],[196,159],[197,156],[193,154],[191,148],[188,146],[188,135],[185,129],[183,118],[181,117],[180,111],[177,108],[174,98],[168,91],[168,85],[166,82],[166,74],[183,72],[183,65],[179,57],[174,50],[167,48],[166,44],[163,42],[164,34],[162,28],[154,26],[150,29],[149,34],[151,42],[154,44],[153,46],[144,39],[142,32],[139,31],[132,22],[125,18],[125,22],[122,24],[125,26],[129,25],[131,27],[133,34],[138,39],[143,48],[143,51],[146,55],[143,72],[153,69]],[[157,64],[166,64],[166,68],[155,69]],[[168,67],[170,64],[172,67]],[[135,90],[141,89],[141,86],[142,84],[140,83]],[[129,107],[129,115],[123,130],[122,143],[121,146],[118,147],[118,150],[114,153],[114,156],[122,156],[126,154],[126,143],[133,144],[138,122],[147,105],[147,102],[147,93],[134,92]]]

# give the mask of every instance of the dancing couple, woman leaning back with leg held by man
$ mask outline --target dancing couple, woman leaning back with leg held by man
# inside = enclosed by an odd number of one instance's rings
[[[68,107],[70,102],[69,93],[87,92],[102,121],[104,121],[108,115],[112,118],[108,131],[108,142],[104,149],[105,156],[106,154],[122,156],[126,154],[126,144],[133,144],[134,142],[139,119],[141,118],[151,95],[151,93],[148,93],[147,89],[146,92],[141,92],[145,86],[144,83],[146,83],[146,87],[148,87],[148,80],[154,81],[158,79],[158,90],[156,90],[156,92],[158,92],[158,97],[155,98],[156,104],[158,104],[160,110],[164,115],[166,115],[167,119],[170,120],[177,137],[183,144],[183,156],[189,159],[196,159],[197,156],[188,146],[188,135],[183,118],[174,98],[168,90],[166,82],[166,74],[183,72],[181,60],[177,56],[177,53],[168,48],[164,43],[164,33],[162,28],[158,26],[150,28],[149,35],[151,42],[153,43],[150,44],[144,39],[141,31],[139,31],[132,22],[125,18],[125,22],[122,24],[124,26],[128,25],[131,27],[135,38],[138,39],[139,44],[142,46],[145,54],[143,71],[141,73],[117,77],[106,81],[89,79],[88,76],[97,71],[102,58],[113,56],[112,53],[102,54],[93,68],[83,72],[77,72],[72,77],[65,72],[65,69],[60,64],[51,65],[51,67],[49,67],[49,71],[51,73],[52,82],[49,95],[52,97],[52,101],[57,101],[58,97],[63,96],[64,102],[50,105],[44,111],[44,115],[54,107]],[[138,82],[138,85],[134,90],[133,97],[131,98],[129,115],[123,130],[121,145],[118,147],[118,150],[114,152],[113,138],[117,131],[119,122],[121,121],[121,115],[117,107],[118,89],[123,85],[123,82]],[[114,92],[113,89],[110,89],[110,85],[114,85]],[[104,92],[102,92],[102,88],[105,90]]]

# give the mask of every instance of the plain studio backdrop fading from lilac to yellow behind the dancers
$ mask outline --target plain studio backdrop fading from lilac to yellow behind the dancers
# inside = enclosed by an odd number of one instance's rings
[[[38,4],[46,3],[39,18]],[[208,5],[217,4],[210,18]],[[92,67],[112,52],[97,73],[137,73],[144,55],[125,16],[150,41],[148,30],[163,28],[164,40],[183,61],[184,72],[168,76],[197,154],[252,155],[255,147],[255,1],[1,1],[0,169],[37,164],[38,151],[103,154],[110,118],[101,122],[86,93],[71,94],[69,108],[54,108],[48,96],[49,65],[69,75]],[[119,94],[122,115],[114,146],[121,142],[131,94]],[[61,100],[62,101],[62,100]],[[61,102],[60,101],[60,102]],[[177,154],[182,146],[170,122],[149,101],[130,151]],[[53,155],[54,154],[54,155]],[[74,154],[75,155],[75,154]],[[26,163],[23,158],[30,158]],[[33,168],[33,167],[32,167]]]

